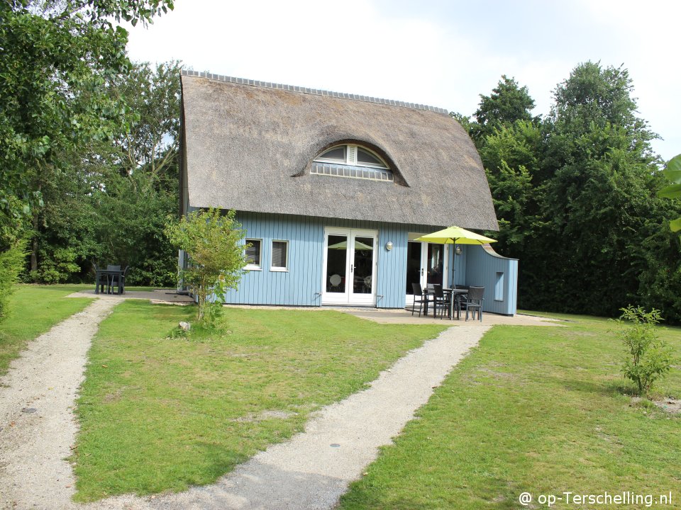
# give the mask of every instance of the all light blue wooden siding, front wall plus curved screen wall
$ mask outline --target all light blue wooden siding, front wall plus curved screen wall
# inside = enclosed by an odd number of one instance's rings
[[[338,227],[377,232],[376,306],[402,308],[409,232],[442,228],[255,212],[238,212],[236,219],[247,231],[247,238],[262,239],[261,270],[245,273],[238,290],[226,294],[228,303],[245,305],[321,306],[324,227]],[[273,240],[289,242],[288,271],[270,271]],[[392,242],[391,251],[385,249],[387,242]],[[486,312],[515,314],[518,261],[489,254],[481,246],[460,246],[462,253],[455,257],[454,250],[449,250],[450,268],[455,263],[455,282],[484,286]]]

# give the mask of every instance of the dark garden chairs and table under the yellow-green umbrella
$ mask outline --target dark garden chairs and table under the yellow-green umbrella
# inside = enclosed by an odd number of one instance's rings
[[[485,298],[485,287],[454,287],[443,288],[442,285],[428,284],[427,288],[423,290],[420,283],[412,283],[414,290],[414,303],[411,305],[411,314],[414,315],[416,305],[419,305],[419,317],[421,317],[421,310],[423,314],[428,316],[428,307],[433,308],[433,317],[445,317],[454,319],[454,312],[456,311],[456,318],[460,318],[461,310],[466,310],[466,320],[470,312],[472,319],[475,319],[475,312],[477,318],[482,322],[482,300]]]

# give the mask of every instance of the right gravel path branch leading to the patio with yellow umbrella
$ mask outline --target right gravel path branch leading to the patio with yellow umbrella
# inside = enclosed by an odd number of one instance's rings
[[[258,453],[206,487],[154,498],[123,496],[92,510],[331,509],[378,448],[414,417],[489,325],[460,324],[381,373],[372,385],[321,409],[303,433]]]

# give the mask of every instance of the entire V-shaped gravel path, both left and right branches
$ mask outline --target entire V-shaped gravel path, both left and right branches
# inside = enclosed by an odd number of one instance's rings
[[[303,433],[255,455],[213,485],[179,494],[71,502],[72,412],[87,351],[122,299],[99,299],[29,344],[0,382],[0,505],[4,509],[331,509],[491,327],[463,323],[409,352],[371,386],[319,411]]]

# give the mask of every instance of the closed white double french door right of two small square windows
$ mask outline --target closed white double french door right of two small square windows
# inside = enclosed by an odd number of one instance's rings
[[[322,305],[376,305],[375,230],[324,229]]]

